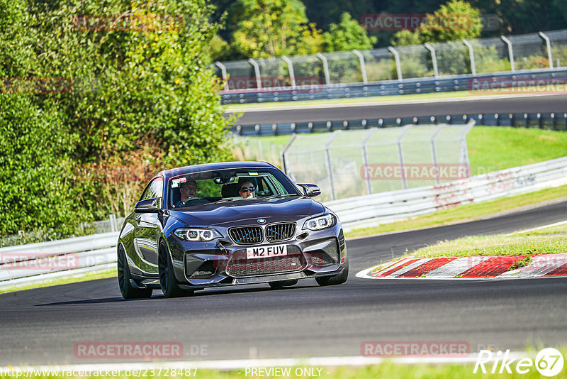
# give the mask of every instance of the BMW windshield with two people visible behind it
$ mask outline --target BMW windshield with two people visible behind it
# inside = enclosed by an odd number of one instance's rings
[[[167,194],[168,209],[301,195],[282,172],[265,167],[178,175],[169,180]]]

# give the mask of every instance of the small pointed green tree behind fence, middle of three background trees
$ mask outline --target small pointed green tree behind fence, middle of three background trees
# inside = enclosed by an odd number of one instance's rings
[[[353,20],[349,13],[341,15],[341,22],[330,25],[329,31],[323,33],[325,52],[346,50],[367,50],[376,43],[376,37],[369,37],[359,21]]]

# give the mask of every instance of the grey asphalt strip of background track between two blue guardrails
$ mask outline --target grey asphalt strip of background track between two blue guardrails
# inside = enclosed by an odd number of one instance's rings
[[[403,97],[400,97],[400,102]],[[395,103],[395,101],[393,101]],[[465,101],[435,100],[407,104],[379,104],[368,106],[339,105],[319,109],[310,106],[305,109],[248,110],[238,123],[291,123],[308,121],[342,121],[359,119],[380,119],[392,117],[443,116],[447,114],[518,114],[551,113],[567,111],[567,95],[546,95],[537,97],[501,97],[498,99],[466,99]]]

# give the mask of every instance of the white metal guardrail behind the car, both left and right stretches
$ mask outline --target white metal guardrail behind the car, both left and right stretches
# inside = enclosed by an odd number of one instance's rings
[[[338,214],[348,231],[565,184],[567,157],[440,185],[335,200],[325,206]],[[118,233],[105,233],[0,248],[0,287],[113,268],[117,241]]]

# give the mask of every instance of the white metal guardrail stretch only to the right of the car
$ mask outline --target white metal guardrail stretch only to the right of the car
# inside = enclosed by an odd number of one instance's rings
[[[345,231],[401,221],[461,204],[567,184],[567,157],[477,175],[440,185],[325,202]]]

